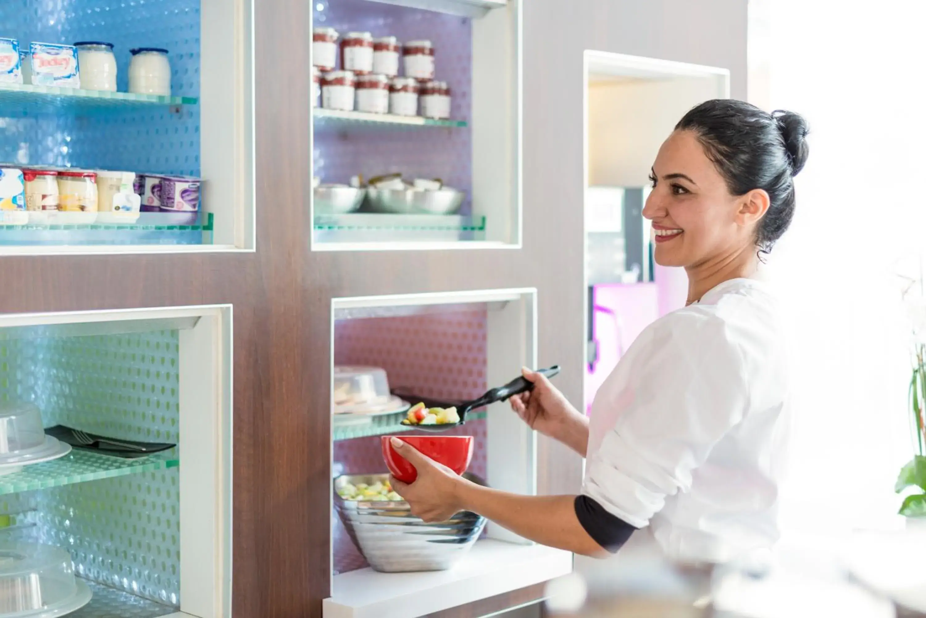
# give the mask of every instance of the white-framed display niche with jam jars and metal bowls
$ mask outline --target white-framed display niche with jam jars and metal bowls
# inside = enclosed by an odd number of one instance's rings
[[[519,246],[520,1],[313,6],[312,249]]]

